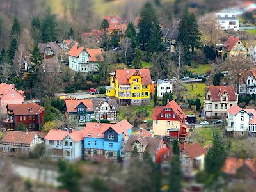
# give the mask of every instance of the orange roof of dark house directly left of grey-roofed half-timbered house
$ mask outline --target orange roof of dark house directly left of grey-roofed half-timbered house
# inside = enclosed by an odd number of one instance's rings
[[[86,106],[86,111],[93,111],[92,99],[82,99],[82,100],[65,100],[67,112],[77,112],[76,107],[83,103]]]

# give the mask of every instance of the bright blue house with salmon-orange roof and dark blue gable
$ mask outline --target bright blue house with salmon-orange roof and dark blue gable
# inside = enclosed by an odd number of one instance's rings
[[[120,151],[131,135],[132,127],[127,120],[117,124],[88,122],[84,129],[84,158],[120,159]]]

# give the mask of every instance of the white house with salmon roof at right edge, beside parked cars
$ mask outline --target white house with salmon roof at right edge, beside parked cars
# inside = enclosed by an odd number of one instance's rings
[[[256,134],[256,109],[242,109],[239,106],[232,106],[227,112],[228,124],[225,129],[234,138]]]

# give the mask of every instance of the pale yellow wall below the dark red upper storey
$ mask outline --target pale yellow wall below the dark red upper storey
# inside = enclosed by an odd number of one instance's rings
[[[153,132],[158,136],[169,136],[168,129],[180,129],[180,121],[154,120]]]

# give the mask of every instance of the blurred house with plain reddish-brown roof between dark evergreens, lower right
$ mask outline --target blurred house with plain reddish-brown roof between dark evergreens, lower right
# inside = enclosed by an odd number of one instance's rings
[[[180,163],[185,177],[195,177],[196,173],[204,170],[205,154],[197,142],[180,148]]]

